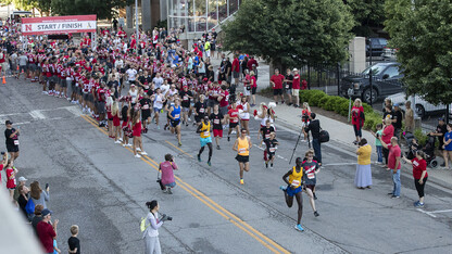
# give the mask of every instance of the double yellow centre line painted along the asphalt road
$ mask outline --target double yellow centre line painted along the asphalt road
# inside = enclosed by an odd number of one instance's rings
[[[95,120],[91,119],[89,116],[81,115],[81,117],[85,120],[87,120],[89,124],[91,124],[93,127],[101,130],[101,132],[103,132],[104,135],[106,135],[106,136],[109,135],[104,129],[100,128],[97,125],[97,123],[95,123]],[[168,141],[166,141],[166,142],[170,143]],[[170,143],[170,144],[172,144],[172,143]],[[174,147],[174,148],[178,149],[179,151],[181,151],[183,153],[187,154],[184,150],[181,150],[181,149],[179,149],[179,148],[177,148],[173,144],[172,144],[172,147]],[[130,148],[126,148],[126,149],[130,152],[134,152]],[[154,169],[159,170],[159,167],[158,167],[159,164],[155,161],[153,161],[152,158],[150,158],[149,156],[147,156],[147,155],[141,156],[141,161],[146,162],[148,165],[150,165]],[[276,242],[274,242],[272,239],[267,238],[265,234],[261,233],[260,231],[258,231],[256,229],[251,227],[249,224],[244,223],[243,220],[238,218],[236,215],[234,215],[233,213],[230,213],[229,211],[227,211],[226,208],[224,208],[223,206],[221,206],[219,204],[217,204],[216,202],[214,202],[213,200],[208,198],[205,194],[203,194],[199,190],[194,189],[192,186],[183,181],[179,177],[175,176],[175,178],[178,181],[179,186],[184,190],[186,190],[192,196],[194,196],[196,199],[198,199],[199,201],[204,203],[208,207],[210,207],[215,213],[217,213],[218,215],[224,217],[226,220],[230,221],[236,227],[240,228],[242,231],[244,231],[246,233],[251,236],[253,239],[259,241],[261,244],[263,244],[265,247],[271,250],[273,253],[290,253],[289,251],[287,251],[286,249],[284,249],[282,246],[280,246]]]

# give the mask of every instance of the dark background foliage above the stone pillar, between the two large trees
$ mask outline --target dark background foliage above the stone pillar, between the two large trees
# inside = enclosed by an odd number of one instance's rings
[[[344,0],[356,21],[353,33],[369,37],[374,33],[371,27],[382,27],[385,22],[385,0]],[[409,2],[409,0],[406,0]]]

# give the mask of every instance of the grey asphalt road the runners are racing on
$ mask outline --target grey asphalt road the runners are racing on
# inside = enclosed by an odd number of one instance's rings
[[[50,183],[48,206],[60,219],[63,253],[73,224],[80,227],[84,253],[141,253],[138,224],[147,214],[145,203],[153,199],[174,217],[160,230],[164,253],[450,253],[452,191],[427,182],[426,207],[416,209],[410,172],[402,175],[401,199],[392,200],[387,195],[389,173],[374,165],[373,189],[359,190],[350,147],[323,145],[325,166],[316,188],[321,216],[314,217],[303,194],[305,231],[299,232],[293,228],[297,205],[288,208],[278,189],[290,168],[297,130],[276,127],[281,144],[274,169],[264,167],[262,151],[253,147],[251,170],[240,186],[233,141],[222,140],[209,167],[206,151],[201,163],[196,160],[200,145],[193,126],[183,128],[180,148],[174,135],[153,126],[143,138],[150,155],[135,158],[76,105],[42,96],[37,84],[7,81],[0,86],[0,120],[21,125],[18,175]],[[259,122],[250,126],[256,144]],[[300,142],[296,156],[306,147]],[[165,153],[175,154],[180,168],[173,195],[162,193],[155,182]]]

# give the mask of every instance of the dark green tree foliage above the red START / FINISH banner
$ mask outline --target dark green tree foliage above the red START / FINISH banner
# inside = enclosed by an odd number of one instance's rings
[[[131,4],[131,0],[52,0],[52,14],[87,15],[97,14],[98,18],[112,18],[113,9]]]

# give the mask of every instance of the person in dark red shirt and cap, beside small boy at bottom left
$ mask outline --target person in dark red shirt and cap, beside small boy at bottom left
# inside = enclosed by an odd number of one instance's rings
[[[55,219],[52,224],[50,220],[52,211],[42,209],[42,220],[38,223],[36,229],[38,231],[38,238],[41,242],[46,253],[53,254],[53,239],[56,239],[56,227],[59,220]]]

